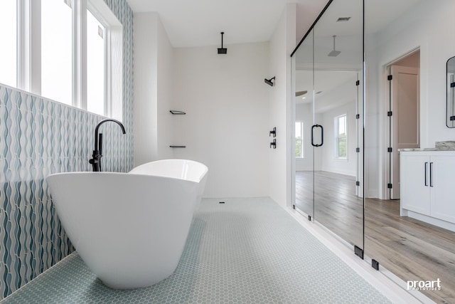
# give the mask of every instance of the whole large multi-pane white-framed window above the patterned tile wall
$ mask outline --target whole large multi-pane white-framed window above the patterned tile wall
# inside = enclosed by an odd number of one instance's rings
[[[1,0],[0,83],[122,120],[123,28],[105,0]]]

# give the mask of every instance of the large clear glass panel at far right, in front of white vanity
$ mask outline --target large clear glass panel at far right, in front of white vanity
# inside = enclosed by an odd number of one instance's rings
[[[417,289],[436,303],[455,303],[455,209],[437,212],[441,206],[454,206],[454,157],[438,156],[446,151],[400,152],[401,169],[398,170],[398,165],[388,171],[389,155],[397,148],[393,145],[395,139],[405,142],[403,139],[413,134],[410,130],[414,128],[415,120],[403,117],[412,113],[410,109],[415,107],[412,103],[415,86],[407,81],[412,79],[416,69],[419,73],[417,96],[420,96],[417,113],[424,113],[417,120],[420,121],[421,132],[417,135],[420,147],[432,148],[434,140],[441,137],[437,126],[444,127],[446,123],[442,114],[446,103],[446,60],[455,56],[454,50],[424,56],[446,50],[448,36],[430,43],[429,49],[426,44],[421,45],[419,52],[416,52],[419,45],[410,45],[407,39],[424,36],[422,28],[429,24],[439,24],[429,36],[451,28],[445,23],[449,19],[444,19],[442,12],[454,11],[455,2],[400,1],[400,10],[396,9],[397,3],[365,0],[365,66],[368,71],[365,85],[365,180],[368,181],[365,183],[365,257],[378,261],[380,271],[387,270],[383,272],[386,276],[393,273],[395,278],[404,281],[405,288],[407,282],[435,282],[425,288],[410,285],[408,289]],[[387,20],[378,18],[386,15]],[[404,21],[406,30],[399,29]],[[388,73],[390,65],[393,70]],[[435,66],[439,68],[437,73],[432,72]],[[396,68],[403,72],[396,73]],[[432,81],[436,75],[440,76],[437,85]],[[450,76],[447,77],[450,80]],[[434,100],[434,93],[440,93],[442,98]],[[438,120],[433,122],[429,117],[438,117]],[[426,137],[432,140],[425,143]],[[389,199],[390,187],[392,190],[397,187],[395,183],[389,184],[389,174],[399,177],[395,180],[400,180],[398,187],[402,191],[397,196],[400,199]],[[439,183],[436,183],[438,178]],[[446,181],[448,184],[444,183]],[[447,202],[451,205],[445,205]]]

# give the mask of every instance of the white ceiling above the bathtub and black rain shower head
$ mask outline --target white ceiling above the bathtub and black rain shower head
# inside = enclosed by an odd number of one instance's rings
[[[327,1],[127,0],[134,13],[158,12],[176,48],[221,44],[221,31],[224,44],[269,41],[287,3],[297,3],[299,27],[309,28]]]

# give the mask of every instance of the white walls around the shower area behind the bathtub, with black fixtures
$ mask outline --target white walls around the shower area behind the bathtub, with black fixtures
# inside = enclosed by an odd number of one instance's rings
[[[269,43],[230,45],[227,55],[218,55],[218,46],[173,49],[156,13],[135,14],[135,165],[195,159],[209,167],[205,196],[290,202],[289,55],[295,41],[296,4],[287,4]],[[270,88],[264,78],[272,76],[277,81]],[[273,127],[276,150],[269,148]]]

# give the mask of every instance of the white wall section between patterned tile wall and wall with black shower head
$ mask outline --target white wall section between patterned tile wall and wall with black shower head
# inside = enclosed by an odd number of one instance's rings
[[[134,14],[134,166],[170,158],[173,48],[156,13]]]

